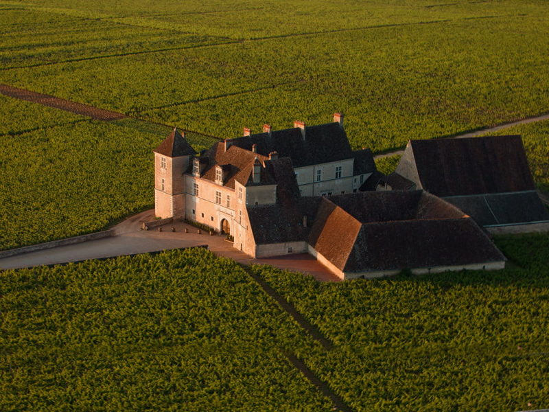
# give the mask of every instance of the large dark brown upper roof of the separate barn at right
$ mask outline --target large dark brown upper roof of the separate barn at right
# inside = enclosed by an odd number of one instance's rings
[[[520,136],[412,140],[410,149],[421,187],[436,196],[535,189]]]

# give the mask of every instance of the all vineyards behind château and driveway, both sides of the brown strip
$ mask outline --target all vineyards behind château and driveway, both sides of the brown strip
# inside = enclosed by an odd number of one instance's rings
[[[151,207],[150,151],[172,126],[194,130],[201,150],[214,141],[204,135],[343,111],[353,147],[382,152],[544,113],[545,5],[0,1],[1,83],[137,117],[104,124],[1,97],[0,249]],[[526,148],[546,190],[539,133]]]

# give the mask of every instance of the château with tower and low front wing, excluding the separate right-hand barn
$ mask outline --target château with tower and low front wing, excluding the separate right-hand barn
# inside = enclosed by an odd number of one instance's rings
[[[369,149],[351,150],[340,113],[317,126],[244,128],[200,155],[174,129],[154,157],[156,216],[230,234],[253,258],[309,253],[342,279],[504,266],[476,222],[440,198],[360,192],[379,173]]]

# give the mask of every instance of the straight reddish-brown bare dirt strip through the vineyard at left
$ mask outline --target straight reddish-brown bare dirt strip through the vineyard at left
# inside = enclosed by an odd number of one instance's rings
[[[0,84],[0,93],[9,96],[10,98],[26,100],[27,102],[40,103],[44,106],[60,108],[64,111],[76,113],[77,115],[89,116],[92,119],[97,120],[118,120],[124,119],[124,117],[126,117],[126,115],[123,115],[122,113],[88,106],[87,104],[71,102],[70,100],[56,98],[54,96],[45,95],[42,93],[36,93],[35,91],[18,89],[17,87],[12,87],[8,84]]]

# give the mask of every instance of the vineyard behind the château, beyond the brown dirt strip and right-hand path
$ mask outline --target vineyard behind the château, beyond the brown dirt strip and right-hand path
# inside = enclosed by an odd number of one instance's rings
[[[344,111],[374,151],[549,106],[541,0],[109,3],[0,2],[0,82],[218,137]]]

